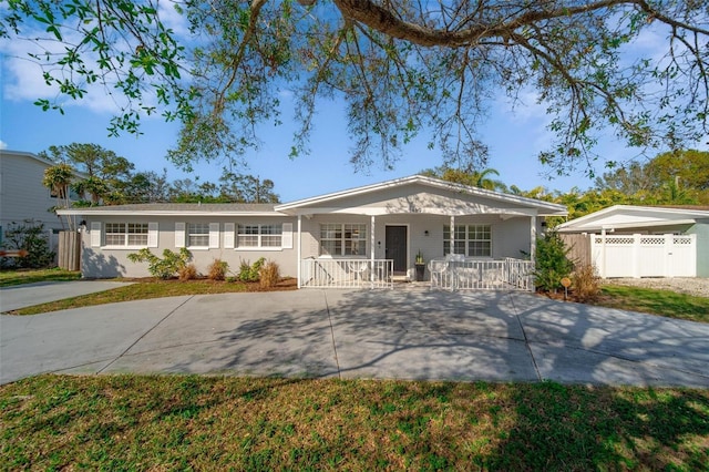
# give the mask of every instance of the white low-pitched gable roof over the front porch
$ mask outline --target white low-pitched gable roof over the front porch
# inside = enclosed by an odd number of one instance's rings
[[[300,199],[274,208],[288,215],[565,216],[563,205],[452,184],[422,175]]]

